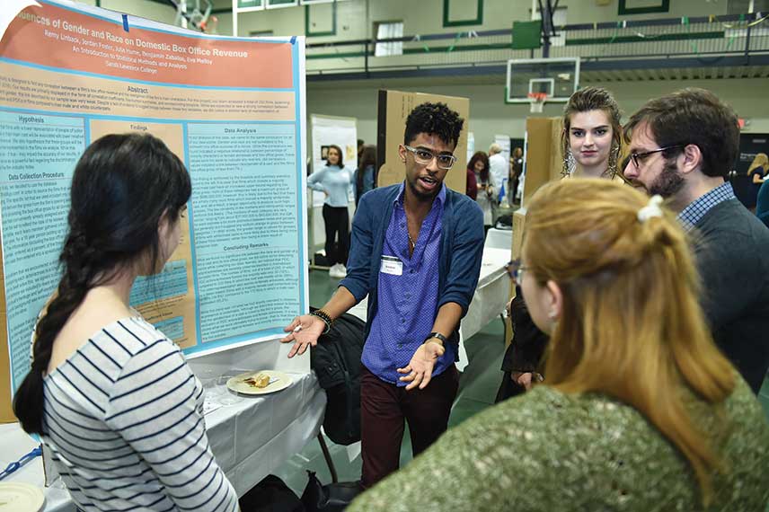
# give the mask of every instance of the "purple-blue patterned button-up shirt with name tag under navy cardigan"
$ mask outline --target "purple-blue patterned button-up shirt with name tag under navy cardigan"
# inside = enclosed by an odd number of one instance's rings
[[[361,361],[385,382],[406,385],[396,368],[409,364],[414,352],[432,331],[438,307],[438,258],[446,185],[422,221],[414,252],[409,255],[409,227],[403,209],[403,185],[393,204],[384,234],[377,299],[378,311],[368,333]],[[455,361],[453,343],[438,358],[433,375]]]

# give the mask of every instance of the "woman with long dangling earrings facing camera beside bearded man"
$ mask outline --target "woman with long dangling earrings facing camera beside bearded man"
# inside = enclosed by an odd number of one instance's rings
[[[563,109],[561,156],[564,178],[603,178],[624,182],[617,172],[617,158],[622,148],[621,113],[611,93],[601,87],[586,87],[571,94]],[[514,271],[516,262],[508,267]],[[515,284],[515,283],[514,283]],[[528,316],[528,310],[516,287],[516,296],[508,305],[513,340],[502,358],[502,383],[497,402],[525,392],[542,371],[547,336]]]

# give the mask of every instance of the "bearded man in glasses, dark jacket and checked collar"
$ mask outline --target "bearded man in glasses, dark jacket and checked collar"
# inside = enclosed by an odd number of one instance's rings
[[[726,181],[738,154],[737,115],[708,91],[684,89],[646,103],[624,137],[625,177],[667,199],[693,231],[713,338],[758,393],[769,367],[769,230]]]

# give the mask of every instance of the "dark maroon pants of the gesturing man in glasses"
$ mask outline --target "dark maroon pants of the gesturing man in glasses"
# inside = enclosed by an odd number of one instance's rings
[[[363,475],[360,483],[364,489],[398,469],[404,419],[409,422],[414,456],[446,431],[458,387],[459,373],[454,365],[434,376],[425,389],[411,391],[385,383],[363,366],[360,380]]]

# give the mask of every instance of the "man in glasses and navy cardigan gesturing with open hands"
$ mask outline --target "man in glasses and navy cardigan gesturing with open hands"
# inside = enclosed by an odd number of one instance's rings
[[[459,321],[483,252],[481,208],[443,183],[463,123],[443,103],[411,111],[398,148],[405,181],[360,200],[347,278],[323,308],[291,322],[282,340],[294,342],[289,358],[304,353],[368,296],[360,390],[364,488],[398,469],[404,419],[418,455],[446,430],[456,396]]]

